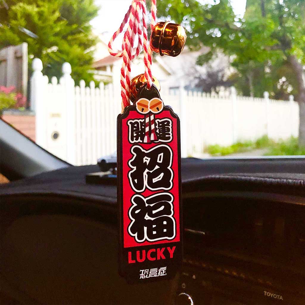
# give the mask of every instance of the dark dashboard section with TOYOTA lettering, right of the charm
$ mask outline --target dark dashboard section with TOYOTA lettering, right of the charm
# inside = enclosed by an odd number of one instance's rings
[[[195,304],[301,304],[304,200],[214,195],[185,200],[178,292]]]

